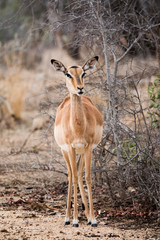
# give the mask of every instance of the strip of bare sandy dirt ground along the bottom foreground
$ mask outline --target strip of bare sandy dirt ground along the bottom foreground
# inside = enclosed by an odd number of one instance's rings
[[[158,232],[149,228],[126,230],[117,224],[104,225],[99,222],[97,228],[80,222],[79,228],[64,226],[64,216],[37,213],[34,211],[0,211],[1,240],[158,240]]]

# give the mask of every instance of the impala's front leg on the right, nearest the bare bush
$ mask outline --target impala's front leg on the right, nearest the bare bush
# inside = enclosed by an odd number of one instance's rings
[[[86,149],[85,153],[85,166],[86,166],[86,183],[88,187],[89,207],[90,207],[90,220],[92,227],[97,227],[97,221],[95,219],[93,211],[93,200],[92,200],[92,188],[91,188],[91,163],[92,163],[92,146]]]

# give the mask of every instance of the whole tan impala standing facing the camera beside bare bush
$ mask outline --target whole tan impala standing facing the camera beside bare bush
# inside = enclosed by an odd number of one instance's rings
[[[65,225],[70,224],[72,181],[74,185],[74,227],[78,227],[77,183],[79,183],[88,224],[97,226],[91,190],[91,159],[93,148],[97,146],[102,137],[103,122],[100,112],[92,101],[88,97],[82,96],[84,94],[84,75],[87,70],[95,67],[97,61],[98,57],[96,56],[89,59],[82,67],[66,68],[61,62],[51,60],[54,69],[66,75],[66,86],[70,93],[70,96],[66,97],[57,109],[54,135],[68,167],[69,185]],[[81,156],[78,164],[76,154]],[[84,166],[89,209],[83,187]]]

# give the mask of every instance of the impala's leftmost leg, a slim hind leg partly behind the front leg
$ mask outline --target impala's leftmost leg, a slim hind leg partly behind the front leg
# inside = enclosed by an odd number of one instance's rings
[[[63,157],[67,163],[68,168],[68,199],[67,199],[67,210],[64,225],[70,224],[70,216],[71,216],[71,197],[72,197],[72,170],[69,162],[68,153],[62,150]]]

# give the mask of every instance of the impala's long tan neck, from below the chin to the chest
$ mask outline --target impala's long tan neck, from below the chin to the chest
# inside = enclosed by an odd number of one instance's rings
[[[84,124],[85,119],[81,97],[71,94],[71,126],[77,136],[84,133]]]

